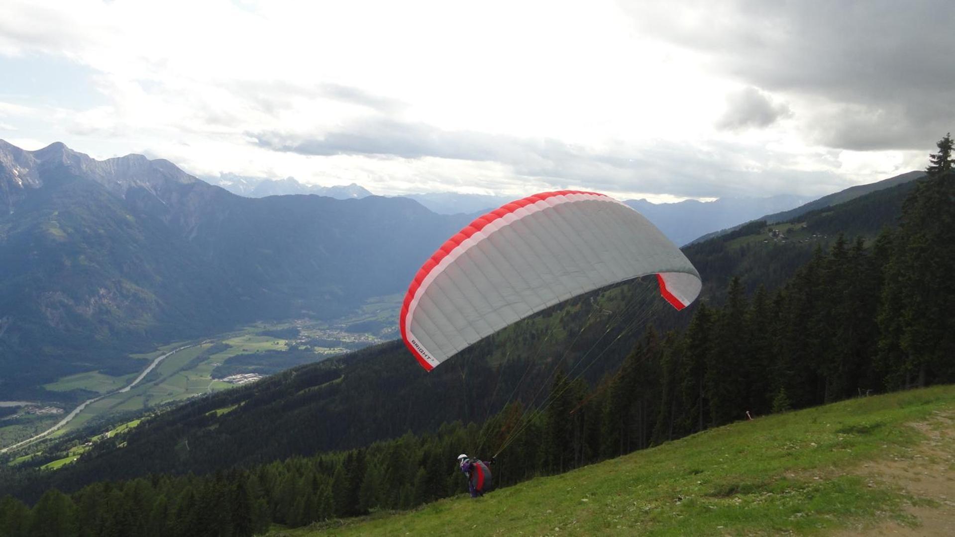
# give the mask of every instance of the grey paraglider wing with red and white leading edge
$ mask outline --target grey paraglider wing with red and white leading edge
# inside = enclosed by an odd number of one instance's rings
[[[690,260],[620,201],[578,191],[527,196],[478,217],[425,261],[401,307],[401,337],[430,371],[512,322],[651,274],[677,309],[699,295]]]

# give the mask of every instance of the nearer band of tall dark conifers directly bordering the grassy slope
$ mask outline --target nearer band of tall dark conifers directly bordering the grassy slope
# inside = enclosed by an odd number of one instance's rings
[[[32,506],[0,500],[0,537],[252,535],[461,493],[461,452],[497,455],[496,485],[507,486],[748,414],[955,382],[949,135],[904,199],[898,225],[875,239],[840,235],[779,285],[748,291],[730,279],[718,301],[690,309],[685,327],[649,326],[601,379],[558,364],[539,380],[549,395],[533,406],[518,399],[480,423],[275,462],[76,483],[38,499],[11,490]]]

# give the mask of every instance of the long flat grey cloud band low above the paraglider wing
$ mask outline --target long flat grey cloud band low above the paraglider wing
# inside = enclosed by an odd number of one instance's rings
[[[512,176],[501,180],[498,191],[512,191],[514,183],[531,181],[551,189],[717,197],[776,192],[812,195],[843,184],[826,170],[797,171],[799,162],[791,155],[733,143],[699,141],[688,146],[657,141],[596,148],[551,138],[448,131],[384,118],[316,134],[268,131],[248,137],[259,148],[296,155],[364,155],[430,164],[463,161],[456,169],[466,174],[477,169],[467,164],[496,164]],[[495,190],[494,185],[486,186]]]

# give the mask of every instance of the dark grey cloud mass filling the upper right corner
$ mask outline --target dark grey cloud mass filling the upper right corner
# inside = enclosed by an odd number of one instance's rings
[[[923,149],[955,124],[948,0],[622,6],[639,31],[698,53],[712,72],[790,96],[810,141]]]

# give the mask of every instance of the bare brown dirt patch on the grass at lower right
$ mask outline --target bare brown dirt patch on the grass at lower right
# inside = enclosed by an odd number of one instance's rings
[[[860,473],[870,479],[870,486],[881,483],[904,489],[912,497],[905,510],[920,526],[886,522],[837,535],[955,535],[955,413],[935,412],[928,422],[911,426],[927,440],[912,447],[905,457],[863,465]]]

